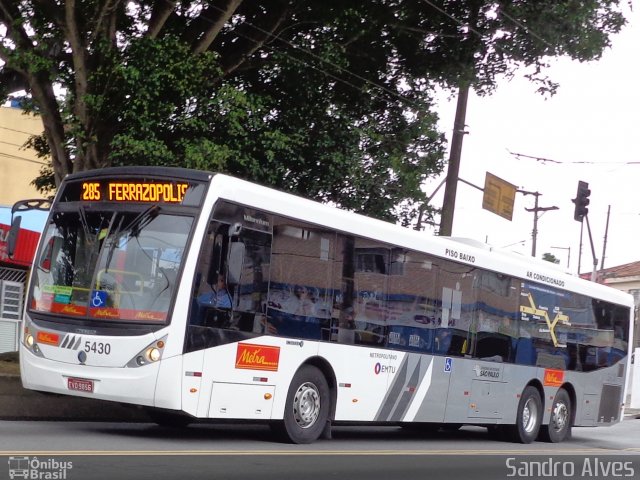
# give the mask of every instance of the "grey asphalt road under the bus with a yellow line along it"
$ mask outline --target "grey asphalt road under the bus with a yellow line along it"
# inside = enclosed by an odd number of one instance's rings
[[[640,477],[638,419],[574,429],[562,444],[506,443],[473,427],[432,435],[336,427],[333,437],[289,445],[248,425],[0,421],[0,479],[12,472],[64,480]]]

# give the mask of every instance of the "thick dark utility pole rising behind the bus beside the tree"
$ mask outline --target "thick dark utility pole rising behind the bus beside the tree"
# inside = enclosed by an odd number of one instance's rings
[[[467,116],[467,100],[469,99],[469,85],[458,88],[458,103],[456,105],[456,119],[453,122],[451,135],[451,152],[449,153],[449,167],[447,169],[442,215],[440,215],[440,235],[451,236],[453,231],[453,212],[456,208],[456,193],[458,189],[458,174],[460,173],[460,158],[462,157],[462,140],[465,134],[465,118]]]

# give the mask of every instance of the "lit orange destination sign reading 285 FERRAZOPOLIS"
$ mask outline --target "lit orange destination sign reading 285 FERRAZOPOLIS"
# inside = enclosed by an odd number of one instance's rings
[[[82,182],[85,202],[182,203],[189,188],[181,182],[107,181]]]

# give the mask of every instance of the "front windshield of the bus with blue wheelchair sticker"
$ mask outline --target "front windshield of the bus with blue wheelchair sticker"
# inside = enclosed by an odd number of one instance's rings
[[[34,264],[31,311],[167,322],[192,223],[157,205],[54,213]]]

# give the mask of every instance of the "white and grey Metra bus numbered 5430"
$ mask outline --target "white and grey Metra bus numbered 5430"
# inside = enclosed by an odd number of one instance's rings
[[[623,416],[633,300],[547,262],[229,176],[69,175],[34,260],[26,388],[159,423],[482,425],[528,443]]]

